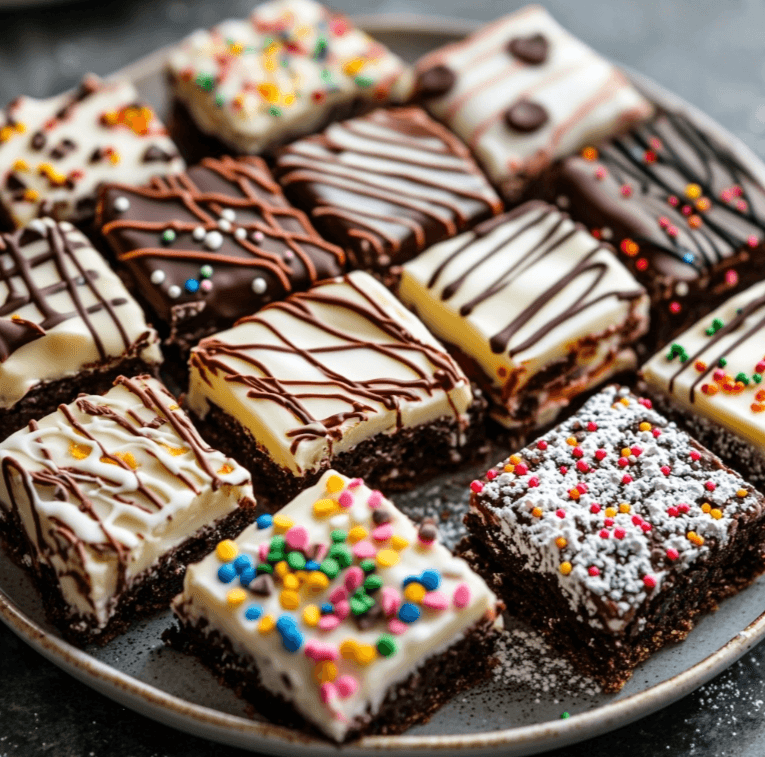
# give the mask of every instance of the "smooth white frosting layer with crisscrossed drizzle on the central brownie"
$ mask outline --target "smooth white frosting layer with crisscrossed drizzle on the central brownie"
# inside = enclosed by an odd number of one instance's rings
[[[444,348],[361,271],[202,340],[186,397],[200,417],[213,403],[236,418],[296,476],[377,434],[455,415],[466,423],[471,401]]]

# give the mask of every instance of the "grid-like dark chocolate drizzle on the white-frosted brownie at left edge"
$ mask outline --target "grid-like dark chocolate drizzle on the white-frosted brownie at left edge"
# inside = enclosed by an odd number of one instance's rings
[[[51,221],[37,221],[36,226],[26,227],[10,234],[0,234],[0,282],[4,285],[5,300],[0,304],[0,360],[6,360],[13,352],[60,323],[71,318],[80,318],[88,328],[101,359],[107,356],[104,344],[89,318],[93,313],[106,310],[117,329],[125,349],[130,347],[130,338],[117,315],[115,308],[123,305],[123,298],[106,299],[98,287],[98,273],[86,270],[77,250],[84,238],[79,232],[63,229]],[[71,227],[70,227],[71,228]],[[83,241],[80,241],[83,240]],[[27,251],[37,246],[39,252]],[[53,263],[60,279],[40,287],[35,279],[35,269]],[[86,306],[81,291],[90,290],[96,302]],[[54,295],[67,292],[72,310],[57,310],[51,304]],[[17,311],[33,304],[39,312],[39,323],[28,319],[9,318]]]

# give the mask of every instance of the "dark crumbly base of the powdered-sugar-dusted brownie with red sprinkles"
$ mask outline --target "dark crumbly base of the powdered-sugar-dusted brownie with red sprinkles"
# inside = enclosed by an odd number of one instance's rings
[[[529,570],[508,553],[502,530],[485,508],[465,516],[471,535],[457,549],[507,605],[508,612],[543,633],[603,691],[619,691],[634,669],[671,642],[683,641],[698,618],[717,609],[765,570],[765,518],[740,528],[725,549],[685,573],[677,573],[652,596],[619,634],[580,622],[560,594],[557,581]]]

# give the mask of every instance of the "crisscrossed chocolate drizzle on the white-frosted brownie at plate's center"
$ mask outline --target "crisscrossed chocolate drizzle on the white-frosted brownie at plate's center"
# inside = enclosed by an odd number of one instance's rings
[[[191,354],[192,366],[203,379],[206,372],[222,374],[227,382],[246,386],[249,398],[273,402],[288,410],[299,424],[287,432],[287,437],[292,439],[293,454],[301,442],[316,438],[326,438],[331,450],[332,443],[342,438],[348,421],[354,418],[364,420],[377,412],[371,403],[394,410],[400,428],[404,402],[418,401],[423,391],[429,395],[435,392],[448,394],[465,380],[446,352],[414,337],[375,302],[358,279],[346,276],[344,284],[352,290],[351,296],[343,296],[337,291],[336,284],[327,284],[295,294],[285,302],[270,305],[262,314],[240,321],[240,325],[257,323],[266,329],[269,334],[267,343],[235,343],[234,330],[230,341],[210,337],[202,340]],[[331,322],[325,317],[328,307],[334,313]],[[280,317],[271,317],[274,309],[281,311]],[[335,325],[353,321],[359,323],[358,329],[354,329],[356,333]],[[322,335],[311,340],[316,346],[298,343],[298,335],[305,329]],[[379,337],[362,338],[357,334],[379,334]],[[374,360],[375,355],[394,360],[405,367],[411,378],[390,378],[365,371],[369,378],[354,379],[333,365],[334,357],[354,351],[358,352],[359,360]],[[278,376],[269,367],[273,365],[269,361],[272,353],[294,354],[311,367],[312,373],[318,372],[323,378],[301,378],[293,372]],[[422,361],[416,359],[416,355],[424,356],[431,369],[423,369]],[[232,366],[236,362],[250,366],[252,370],[243,373]],[[320,398],[344,403],[347,409],[329,417],[315,417],[308,403]],[[452,410],[457,416],[453,406]]]

